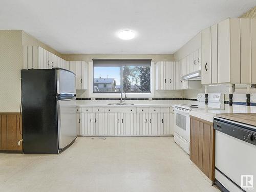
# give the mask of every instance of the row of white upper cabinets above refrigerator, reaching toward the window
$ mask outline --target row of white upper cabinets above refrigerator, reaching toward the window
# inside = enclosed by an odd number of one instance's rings
[[[66,61],[39,46],[25,46],[23,69],[62,68],[76,74],[76,89],[88,89],[88,63],[85,61]]]

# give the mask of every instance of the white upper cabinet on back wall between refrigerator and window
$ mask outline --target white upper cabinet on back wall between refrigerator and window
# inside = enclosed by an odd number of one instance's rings
[[[76,74],[76,89],[88,89],[88,63],[85,61],[67,61],[67,69]]]

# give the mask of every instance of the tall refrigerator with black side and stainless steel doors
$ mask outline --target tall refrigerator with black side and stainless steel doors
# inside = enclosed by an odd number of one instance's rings
[[[76,139],[76,75],[21,70],[24,154],[58,154]]]

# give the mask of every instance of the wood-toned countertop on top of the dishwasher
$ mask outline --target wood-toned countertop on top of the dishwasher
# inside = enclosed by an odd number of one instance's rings
[[[217,117],[256,126],[256,113],[222,113]]]

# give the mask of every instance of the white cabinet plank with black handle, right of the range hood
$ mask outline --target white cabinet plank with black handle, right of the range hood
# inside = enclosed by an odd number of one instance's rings
[[[202,84],[211,83],[211,32],[210,27],[204,29],[202,35]]]

